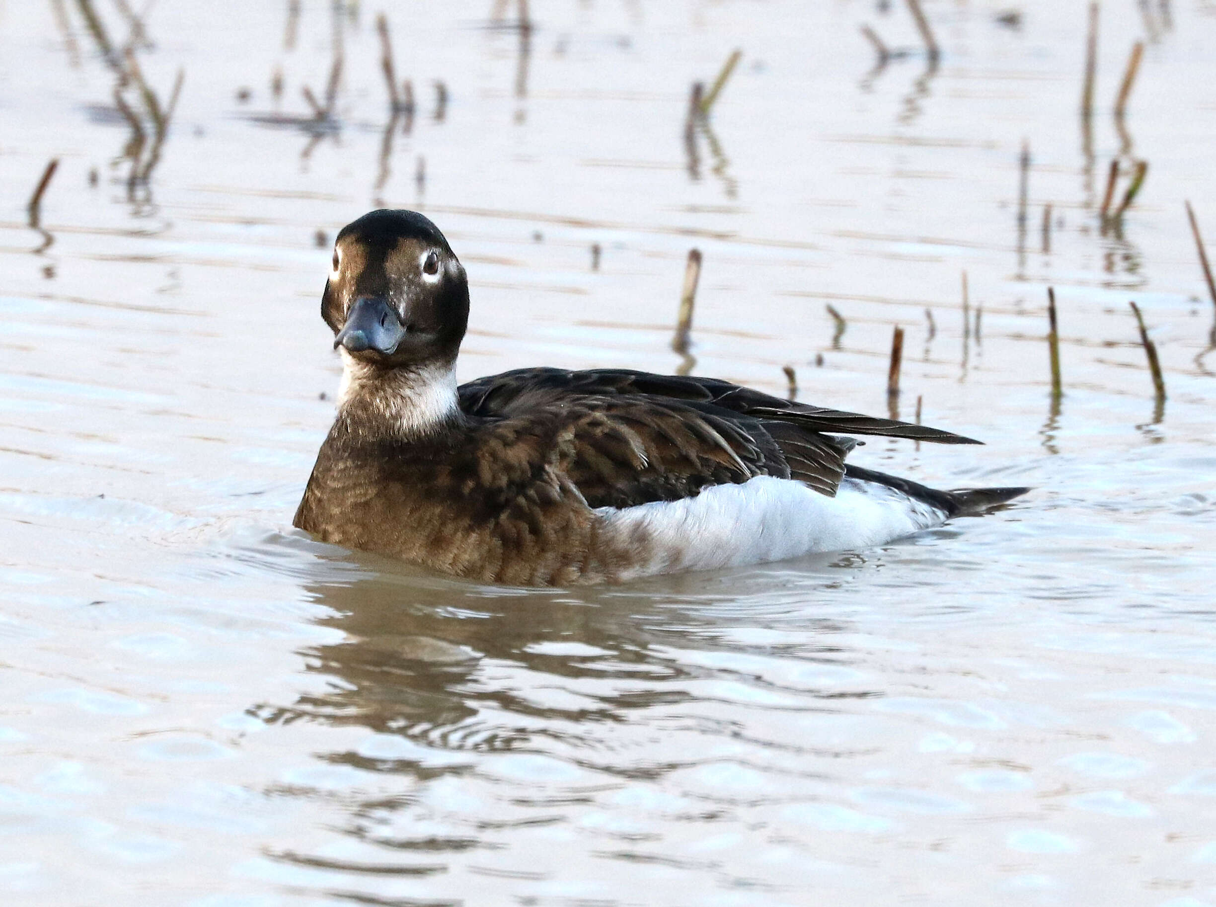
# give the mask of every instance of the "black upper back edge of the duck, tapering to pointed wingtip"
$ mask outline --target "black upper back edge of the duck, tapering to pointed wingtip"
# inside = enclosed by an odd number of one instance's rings
[[[717,378],[652,374],[625,368],[595,368],[580,372],[561,368],[519,368],[479,378],[460,388],[461,409],[480,416],[506,415],[518,405],[537,405],[542,400],[559,400],[581,394],[642,395],[682,400],[766,422],[789,422],[816,433],[884,435],[938,444],[980,444],[939,428],[790,402]]]

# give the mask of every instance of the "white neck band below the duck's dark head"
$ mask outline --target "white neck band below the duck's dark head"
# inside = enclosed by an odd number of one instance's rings
[[[451,366],[383,372],[338,349],[342,353],[339,413],[358,401],[361,409],[381,416],[409,438],[428,434],[456,412],[456,370]]]

